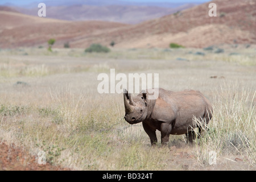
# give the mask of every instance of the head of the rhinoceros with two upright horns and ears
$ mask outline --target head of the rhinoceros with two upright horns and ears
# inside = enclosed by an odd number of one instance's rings
[[[142,122],[147,117],[147,95],[143,93],[135,97],[124,90],[123,101],[125,103],[125,120],[131,125]]]

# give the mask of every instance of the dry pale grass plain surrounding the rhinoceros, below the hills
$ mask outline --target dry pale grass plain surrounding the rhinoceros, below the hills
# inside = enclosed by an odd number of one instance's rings
[[[0,52],[1,140],[34,155],[46,151],[48,162],[73,169],[255,169],[253,50],[240,51],[237,58],[229,52],[194,55],[199,49],[89,55],[82,49],[53,49],[50,55],[43,49],[22,50]],[[150,147],[141,123],[130,126],[123,119],[122,94],[98,94],[97,75],[110,68],[159,73],[159,86],[174,91],[200,90],[214,105],[208,131],[193,146],[184,136],[171,135],[170,148]],[[213,166],[210,151],[217,153]]]

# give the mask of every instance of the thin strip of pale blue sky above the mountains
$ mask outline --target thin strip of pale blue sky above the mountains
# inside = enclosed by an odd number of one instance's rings
[[[55,0],[56,1],[56,0]],[[57,1],[61,1],[61,0],[57,0]],[[71,0],[72,1],[72,0]],[[168,2],[168,3],[193,3],[193,2],[198,2],[198,3],[204,3],[204,2],[208,2],[207,0],[119,0],[119,1],[126,1],[126,2]],[[0,0],[0,5],[5,5],[5,4],[13,4],[13,5],[29,5],[31,3],[40,3],[40,2],[44,2],[44,0]]]

